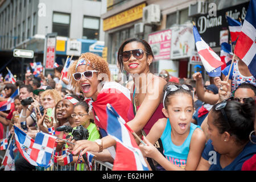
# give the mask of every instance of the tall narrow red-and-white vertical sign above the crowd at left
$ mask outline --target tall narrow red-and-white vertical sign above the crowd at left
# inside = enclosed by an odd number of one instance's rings
[[[46,69],[53,69],[53,64],[55,62],[55,50],[56,47],[56,36],[47,34],[47,44],[46,44]]]

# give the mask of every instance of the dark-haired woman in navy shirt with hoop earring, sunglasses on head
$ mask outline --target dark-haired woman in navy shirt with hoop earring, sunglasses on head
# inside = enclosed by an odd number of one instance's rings
[[[197,170],[240,171],[242,164],[256,153],[249,135],[254,129],[254,100],[224,100],[208,115],[209,140]],[[255,141],[254,141],[255,142]]]

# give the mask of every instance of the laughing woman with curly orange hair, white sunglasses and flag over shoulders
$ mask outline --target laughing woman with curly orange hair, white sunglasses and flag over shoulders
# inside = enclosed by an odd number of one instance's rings
[[[104,148],[114,146],[115,140],[106,133],[108,118],[106,105],[111,104],[127,122],[129,109],[127,106],[131,103],[129,90],[117,82],[111,82],[108,63],[102,57],[90,52],[83,53],[79,60],[71,65],[68,77],[73,88],[84,94],[85,101],[93,111],[94,122],[103,137],[95,142],[79,140],[74,150],[79,148],[78,151],[83,150],[81,154],[85,154],[86,151],[101,152],[102,143],[105,143]],[[114,148],[111,148],[110,154],[114,158]]]

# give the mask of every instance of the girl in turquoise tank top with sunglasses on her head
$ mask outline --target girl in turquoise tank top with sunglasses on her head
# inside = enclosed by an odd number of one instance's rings
[[[159,119],[144,138],[147,146],[140,144],[143,155],[158,162],[164,169],[195,170],[205,146],[205,135],[191,123],[193,114],[193,88],[191,85],[164,87],[164,109],[167,118]],[[164,155],[152,145],[162,140]]]

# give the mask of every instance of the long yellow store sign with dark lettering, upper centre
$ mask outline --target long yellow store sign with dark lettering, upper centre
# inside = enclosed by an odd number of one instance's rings
[[[140,19],[143,16],[143,7],[146,3],[132,7],[129,10],[118,13],[114,16],[110,16],[103,20],[103,30],[107,31],[112,28],[121,26],[122,24],[133,22],[134,20]]]

